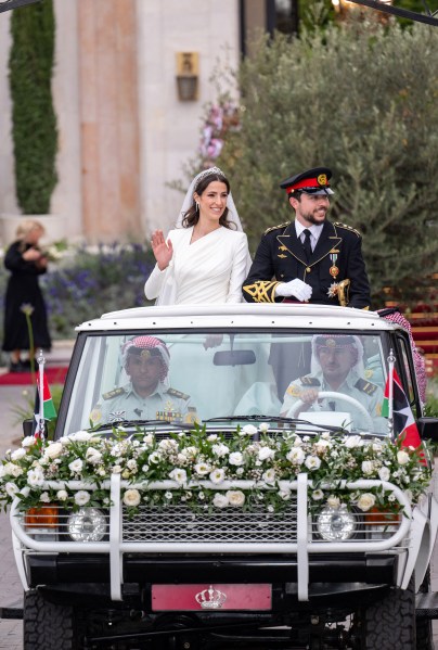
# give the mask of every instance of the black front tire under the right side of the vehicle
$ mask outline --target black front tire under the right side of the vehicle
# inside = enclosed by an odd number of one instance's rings
[[[415,650],[415,594],[394,588],[383,600],[359,612],[360,650]],[[422,647],[424,650],[424,647]]]

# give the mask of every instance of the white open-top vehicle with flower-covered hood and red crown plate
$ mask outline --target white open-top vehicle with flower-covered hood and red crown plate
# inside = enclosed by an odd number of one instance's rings
[[[117,432],[119,443],[120,435],[127,444],[139,439],[156,454],[142,468],[129,466],[120,443],[111,451],[118,469],[102,471],[100,482],[96,473],[94,485],[72,470],[62,480],[46,475],[40,486],[47,494],[108,490],[111,498],[98,505],[98,496],[85,506],[77,499],[76,508],[60,501],[51,505],[53,517],[41,509],[29,518],[15,499],[25,650],[433,648],[431,607],[424,606],[433,599],[428,568],[438,526],[431,493],[415,504],[413,485],[400,487],[389,470],[372,474],[366,464],[355,481],[347,464],[333,484],[317,485],[313,473],[327,458],[323,447],[333,449],[332,436],[347,449],[375,450],[401,433],[397,418],[388,425],[381,412],[390,355],[420,434],[437,437],[438,421],[423,417],[403,329],[344,307],[242,304],[129,309],[85,322],[77,333],[55,441],[83,439],[91,423],[91,442],[101,436],[110,445]],[[120,351],[138,336],[165,343],[166,381],[185,410],[170,399],[153,416],[142,407],[127,417],[125,407],[105,404],[129,379]],[[339,341],[360,351],[355,368],[363,377],[349,391],[327,390],[314,367],[315,346],[326,353]],[[319,392],[317,402],[299,399],[307,387]],[[197,446],[188,451],[194,426]],[[315,441],[318,450],[301,463],[297,449]],[[172,458],[169,448],[180,474],[165,480],[153,472]],[[199,455],[197,462],[190,454]],[[228,463],[224,473],[211,454]],[[131,460],[139,455],[132,451]],[[141,480],[136,472],[144,473]],[[345,502],[335,488],[348,495]],[[279,494],[284,508],[278,509]],[[359,507],[375,494],[398,514]]]

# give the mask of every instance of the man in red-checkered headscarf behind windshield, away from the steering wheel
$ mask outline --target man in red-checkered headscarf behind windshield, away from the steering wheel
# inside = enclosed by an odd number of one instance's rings
[[[93,425],[124,420],[169,420],[194,422],[196,409],[190,395],[165,382],[170,355],[155,336],[136,336],[121,347],[121,365],[129,383],[102,395],[90,415]]]

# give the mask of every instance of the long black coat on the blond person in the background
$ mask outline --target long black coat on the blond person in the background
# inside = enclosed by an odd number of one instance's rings
[[[51,339],[47,324],[44,299],[38,283],[38,276],[46,272],[35,262],[23,259],[20,250],[21,242],[14,242],[9,247],[4,266],[11,271],[4,299],[4,352],[13,349],[29,349],[29,332],[27,319],[22,310],[23,305],[31,305],[34,311],[30,316],[35,348],[51,348]],[[25,251],[29,248],[26,245]]]

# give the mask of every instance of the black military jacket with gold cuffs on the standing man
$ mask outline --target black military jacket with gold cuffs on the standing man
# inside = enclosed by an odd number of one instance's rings
[[[270,228],[261,238],[243,284],[244,298],[248,303],[283,302],[285,298],[274,297],[276,283],[299,278],[312,288],[310,303],[339,305],[337,295],[328,296],[328,289],[335,282],[349,279],[348,306],[359,309],[370,307],[370,285],[361,243],[359,232],[349,226],[324,221],[317,246],[307,263],[294,221]],[[332,275],[331,269],[332,273],[336,273],[337,269],[337,275]],[[294,296],[291,299],[294,301]]]

